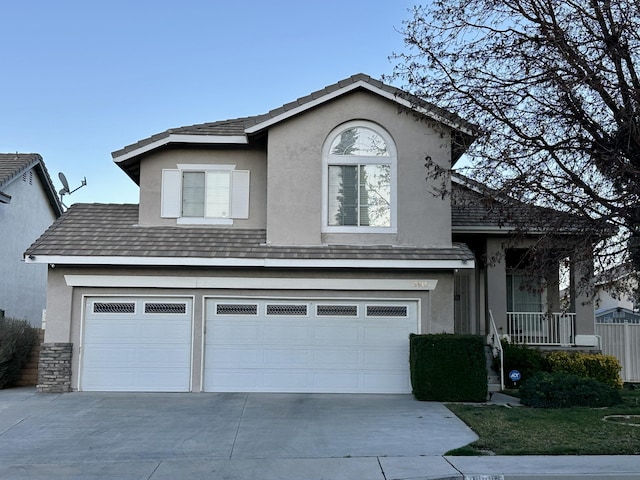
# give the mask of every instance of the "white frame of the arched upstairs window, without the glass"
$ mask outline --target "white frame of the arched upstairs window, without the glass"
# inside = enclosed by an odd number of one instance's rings
[[[334,139],[345,130],[355,127],[367,128],[374,131],[387,144],[389,156],[387,157],[369,157],[359,155],[331,155],[330,148]],[[388,161],[381,161],[381,160]],[[322,233],[397,233],[397,205],[398,205],[398,189],[397,189],[397,159],[398,154],[389,132],[377,123],[354,120],[341,124],[334,128],[327,136],[322,147]],[[389,214],[391,215],[390,226],[388,227],[361,227],[354,225],[329,225],[329,166],[332,165],[383,165],[388,164],[391,167],[391,205]]]

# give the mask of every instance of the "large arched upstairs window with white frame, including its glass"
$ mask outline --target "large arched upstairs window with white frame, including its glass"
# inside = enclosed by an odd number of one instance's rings
[[[323,231],[395,231],[396,149],[386,131],[364,121],[339,126],[323,168]]]

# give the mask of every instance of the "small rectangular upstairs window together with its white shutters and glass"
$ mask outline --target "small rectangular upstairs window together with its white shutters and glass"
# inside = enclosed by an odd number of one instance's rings
[[[249,217],[249,172],[233,165],[162,171],[162,217],[183,224],[232,224]]]

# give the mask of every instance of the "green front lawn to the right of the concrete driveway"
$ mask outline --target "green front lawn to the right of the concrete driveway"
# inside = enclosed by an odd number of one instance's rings
[[[480,437],[448,455],[638,455],[640,426],[625,423],[640,423],[640,390],[621,394],[624,402],[608,408],[448,404]]]

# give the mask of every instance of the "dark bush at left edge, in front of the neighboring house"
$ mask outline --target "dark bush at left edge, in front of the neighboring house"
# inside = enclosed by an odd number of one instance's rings
[[[26,320],[0,317],[0,388],[20,378],[38,331]]]

